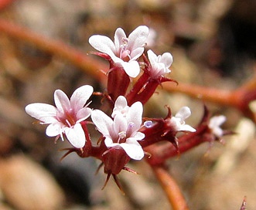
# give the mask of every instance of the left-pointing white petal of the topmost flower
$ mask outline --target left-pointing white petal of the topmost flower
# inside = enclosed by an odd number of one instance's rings
[[[116,49],[114,46],[114,42],[112,42],[112,40],[109,39],[108,36],[101,36],[101,35],[90,36],[89,43],[98,51],[104,52],[108,54],[108,56],[111,56],[111,59],[116,57],[115,55]]]

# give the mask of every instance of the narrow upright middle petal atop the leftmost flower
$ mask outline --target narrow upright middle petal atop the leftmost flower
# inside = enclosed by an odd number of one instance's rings
[[[66,111],[69,111],[71,108],[70,100],[67,97],[66,93],[64,93],[62,90],[55,90],[54,102],[60,113],[65,113]]]

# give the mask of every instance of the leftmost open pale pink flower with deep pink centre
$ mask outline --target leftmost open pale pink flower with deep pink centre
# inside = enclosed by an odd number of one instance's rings
[[[94,89],[92,86],[80,86],[69,98],[62,90],[54,92],[56,107],[47,103],[31,103],[26,106],[26,113],[41,121],[41,124],[49,124],[46,135],[49,137],[61,137],[63,134],[73,147],[81,148],[85,144],[84,130],[80,122],[90,116],[91,109],[84,107]]]

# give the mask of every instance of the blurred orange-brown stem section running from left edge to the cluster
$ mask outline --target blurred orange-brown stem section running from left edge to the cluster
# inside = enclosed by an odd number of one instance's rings
[[[67,43],[47,39],[45,36],[40,36],[19,25],[15,25],[15,23],[5,21],[4,19],[0,19],[0,32],[12,38],[35,45],[38,49],[49,52],[55,56],[59,56],[72,63],[74,66],[84,70],[84,72],[90,74],[90,76],[94,76],[94,78],[100,80],[101,83],[106,82],[107,78],[100,69],[107,69],[108,66],[102,63],[101,60],[94,59],[86,53],[72,46],[68,46]]]

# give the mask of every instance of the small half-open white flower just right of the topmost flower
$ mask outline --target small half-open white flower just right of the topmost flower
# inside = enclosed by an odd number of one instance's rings
[[[149,49],[148,59],[152,66],[149,72],[152,78],[157,78],[171,72],[169,69],[169,67],[172,65],[171,53],[165,52],[162,54],[162,56],[156,56],[155,53]]]

